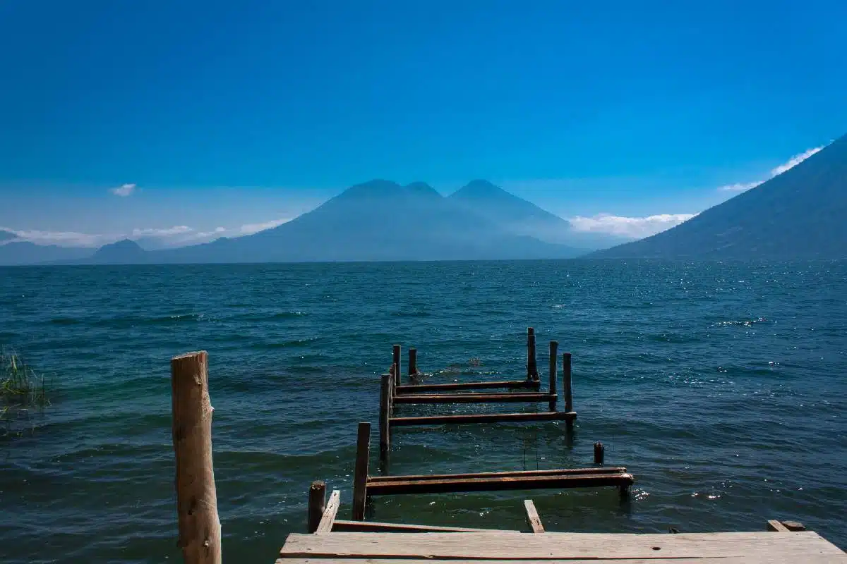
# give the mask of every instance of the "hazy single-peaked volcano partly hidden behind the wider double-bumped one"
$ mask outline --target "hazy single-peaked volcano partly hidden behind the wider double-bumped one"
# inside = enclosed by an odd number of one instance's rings
[[[588,251],[629,240],[605,233],[575,231],[567,220],[487,180],[473,180],[451,194],[449,199],[512,233],[539,238],[548,243],[567,244]]]

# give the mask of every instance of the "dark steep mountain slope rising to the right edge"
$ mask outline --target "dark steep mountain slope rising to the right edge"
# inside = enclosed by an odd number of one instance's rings
[[[847,257],[847,136],[754,189],[663,233],[592,257]]]

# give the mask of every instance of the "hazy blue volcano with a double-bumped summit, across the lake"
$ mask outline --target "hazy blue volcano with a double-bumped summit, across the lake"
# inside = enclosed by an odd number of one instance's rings
[[[157,262],[540,259],[577,249],[511,233],[425,183],[373,180],[241,238],[149,253]]]

